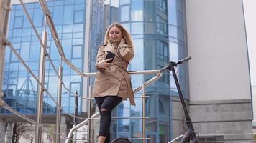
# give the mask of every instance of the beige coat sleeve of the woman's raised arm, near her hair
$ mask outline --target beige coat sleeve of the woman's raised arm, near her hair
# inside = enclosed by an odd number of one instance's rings
[[[128,44],[122,44],[118,47],[118,51],[122,59],[131,61],[134,56],[133,47]]]

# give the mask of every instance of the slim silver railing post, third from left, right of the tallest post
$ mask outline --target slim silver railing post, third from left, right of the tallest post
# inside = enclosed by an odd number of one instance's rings
[[[62,92],[62,77],[63,77],[63,67],[59,66],[59,77],[58,78],[58,99],[57,99],[57,113],[56,113],[56,142],[60,142],[60,112],[61,112],[61,92]]]

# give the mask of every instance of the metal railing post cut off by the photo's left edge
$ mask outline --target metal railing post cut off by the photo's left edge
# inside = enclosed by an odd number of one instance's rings
[[[0,32],[5,36],[7,34],[9,10],[10,10],[10,0],[0,1]],[[5,44],[3,39],[0,38],[0,107],[4,105],[4,101],[1,99],[4,96],[2,92],[2,82],[4,79],[4,54],[5,54]]]

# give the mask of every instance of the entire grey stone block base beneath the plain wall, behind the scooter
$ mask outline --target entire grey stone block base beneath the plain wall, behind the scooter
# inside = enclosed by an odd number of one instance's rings
[[[224,140],[252,139],[250,99],[191,102],[189,114],[195,131],[206,137],[222,134]]]

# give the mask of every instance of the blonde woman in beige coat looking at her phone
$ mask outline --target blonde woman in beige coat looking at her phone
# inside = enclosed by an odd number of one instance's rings
[[[114,58],[106,59],[109,51],[114,53]],[[96,57],[98,71],[94,82],[93,97],[101,115],[98,143],[110,141],[109,127],[112,109],[128,97],[130,103],[135,105],[131,77],[127,72],[129,61],[133,56],[130,34],[121,24],[111,24],[106,31],[104,45],[99,46]]]

